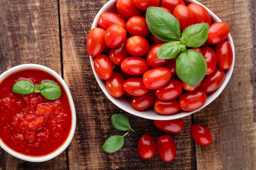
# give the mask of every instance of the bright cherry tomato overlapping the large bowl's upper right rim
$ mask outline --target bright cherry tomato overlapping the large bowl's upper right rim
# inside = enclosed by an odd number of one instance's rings
[[[227,38],[229,31],[229,25],[226,22],[211,24],[207,40],[210,44],[218,44]]]

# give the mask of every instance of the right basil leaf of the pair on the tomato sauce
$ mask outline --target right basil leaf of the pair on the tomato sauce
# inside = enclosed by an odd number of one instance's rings
[[[42,82],[36,88],[46,99],[54,100],[61,97],[61,87],[54,82]]]

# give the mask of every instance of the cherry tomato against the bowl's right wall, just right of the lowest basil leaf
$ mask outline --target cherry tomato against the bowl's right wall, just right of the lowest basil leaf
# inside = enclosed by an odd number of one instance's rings
[[[224,71],[222,71],[220,68],[216,68],[216,70],[211,75],[204,77],[200,89],[206,94],[213,93],[220,87],[224,81],[224,78]]]

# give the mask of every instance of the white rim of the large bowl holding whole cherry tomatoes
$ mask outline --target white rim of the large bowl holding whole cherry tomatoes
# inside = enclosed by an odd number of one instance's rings
[[[97,15],[95,16],[94,18],[94,21],[92,23],[92,27],[91,29],[93,28],[97,28],[98,26],[98,19],[99,19],[99,15],[103,12],[107,12],[109,11],[111,8],[113,8],[113,6],[115,5],[117,0],[109,0],[100,10],[99,12],[97,13]],[[203,4],[201,4],[200,2],[196,1],[196,0],[184,0],[184,2],[186,4],[191,4],[191,3],[195,3],[195,4],[199,4],[201,5],[202,7],[204,7],[205,9],[207,9],[207,11],[209,12],[210,16],[211,16],[211,19],[214,20],[215,22],[222,22],[220,20],[220,18],[218,18],[217,15],[215,15],[211,10],[209,10],[207,7],[205,7]],[[139,117],[142,117],[142,118],[146,118],[146,119],[152,119],[152,120],[170,120],[170,119],[178,119],[178,118],[182,118],[182,117],[186,117],[188,115],[191,115],[195,112],[197,112],[198,110],[201,110],[202,108],[206,107],[208,104],[210,104],[211,102],[213,102],[213,100],[215,100],[219,95],[220,93],[224,90],[225,86],[228,84],[229,82],[229,79],[231,78],[231,75],[233,73],[233,70],[234,70],[234,64],[235,64],[235,47],[234,47],[234,42],[233,42],[233,39],[231,37],[231,34],[229,33],[228,37],[226,38],[226,40],[230,43],[231,45],[231,49],[232,49],[232,52],[233,52],[233,62],[232,62],[232,65],[231,67],[225,71],[225,79],[224,81],[222,82],[221,86],[218,88],[217,91],[211,93],[211,95],[214,94],[213,97],[211,97],[210,100],[207,100],[207,102],[205,102],[205,104],[200,107],[199,109],[197,110],[193,110],[193,111],[183,111],[182,112],[179,112],[177,114],[174,114],[174,115],[158,115],[158,117],[154,117],[154,116],[149,116],[149,115],[146,115],[146,114],[142,114],[144,112],[141,112],[141,111],[137,111],[137,110],[134,110],[132,109],[132,107],[130,107],[131,109],[128,109],[124,106],[120,106],[119,104],[117,104],[117,102],[115,101],[117,98],[113,97],[112,95],[110,95],[110,93],[106,90],[106,87],[105,87],[105,83],[101,83],[101,78],[97,75],[95,69],[94,69],[94,59],[95,57],[92,57],[90,56],[90,63],[91,63],[91,66],[92,66],[92,71],[94,73],[94,76],[101,88],[101,90],[103,91],[103,93],[108,97],[108,99],[110,99],[110,101],[115,104],[117,107],[121,108],[122,110],[132,114],[132,115],[136,115],[136,116],[139,116]],[[229,75],[229,76],[227,76]]]

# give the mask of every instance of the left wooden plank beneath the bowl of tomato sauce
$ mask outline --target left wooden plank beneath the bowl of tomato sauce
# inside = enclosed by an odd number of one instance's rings
[[[0,72],[19,64],[48,66],[61,75],[57,0],[0,1]],[[29,163],[0,151],[2,170],[68,169],[66,152],[44,163]]]

